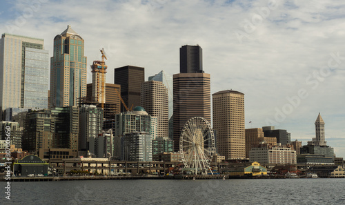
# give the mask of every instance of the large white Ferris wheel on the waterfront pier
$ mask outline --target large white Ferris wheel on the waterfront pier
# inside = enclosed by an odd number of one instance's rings
[[[210,170],[210,162],[215,154],[215,135],[206,119],[190,118],[182,128],[179,138],[179,152],[185,168],[195,174]]]

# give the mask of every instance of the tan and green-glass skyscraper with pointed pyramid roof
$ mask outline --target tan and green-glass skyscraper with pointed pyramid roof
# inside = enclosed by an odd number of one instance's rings
[[[69,25],[54,38],[50,68],[50,106],[77,106],[86,97],[86,57],[83,38]]]

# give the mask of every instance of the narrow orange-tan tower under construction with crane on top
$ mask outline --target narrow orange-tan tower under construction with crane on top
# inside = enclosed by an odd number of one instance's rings
[[[102,60],[93,61],[91,65],[92,69],[92,97],[95,101],[101,103],[101,107],[104,108],[106,103],[106,72],[108,66],[104,59],[108,60],[106,57],[106,52],[104,49],[101,50]]]

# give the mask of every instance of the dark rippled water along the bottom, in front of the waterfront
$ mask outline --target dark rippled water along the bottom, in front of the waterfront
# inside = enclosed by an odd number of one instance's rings
[[[344,182],[345,179],[12,182],[11,200],[5,199],[1,191],[0,204],[345,204]]]

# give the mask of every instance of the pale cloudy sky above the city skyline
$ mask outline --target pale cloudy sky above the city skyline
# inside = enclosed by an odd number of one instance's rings
[[[328,146],[345,157],[345,1],[0,1],[0,32],[44,39],[50,56],[68,25],[88,65],[104,48],[108,83],[126,65],[146,80],[176,74],[179,48],[198,44],[211,93],[245,94],[246,128],[286,129],[305,145],[321,113]]]

